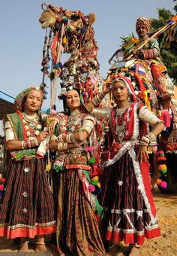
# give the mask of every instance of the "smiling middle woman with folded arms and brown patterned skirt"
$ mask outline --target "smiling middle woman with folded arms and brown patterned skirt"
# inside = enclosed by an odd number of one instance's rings
[[[101,211],[101,206],[95,194],[92,194],[95,187],[91,185],[90,178],[94,175],[94,157],[90,155],[93,153],[92,145],[88,147],[88,142],[93,139],[95,118],[91,114],[85,114],[82,107],[78,90],[70,88],[64,96],[65,113],[56,116],[58,126],[55,127],[55,136],[52,136],[49,145],[50,149],[58,151],[53,166],[53,172],[58,172],[59,175],[58,253],[104,255],[96,216]],[[49,128],[54,124],[55,121],[52,121]]]

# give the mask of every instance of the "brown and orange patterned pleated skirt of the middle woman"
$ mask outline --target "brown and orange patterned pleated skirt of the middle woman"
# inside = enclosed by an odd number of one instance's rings
[[[59,176],[58,250],[66,255],[105,255],[98,219],[86,197],[78,170],[68,169]]]

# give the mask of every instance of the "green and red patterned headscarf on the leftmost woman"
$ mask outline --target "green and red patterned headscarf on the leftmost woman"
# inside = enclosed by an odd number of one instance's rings
[[[44,95],[46,94],[46,91],[44,90],[44,88],[45,84],[40,84],[40,87],[28,87],[26,88],[26,90],[23,90],[23,92],[19,93],[14,100],[15,109],[19,111],[23,110],[26,97],[28,96],[28,93],[30,93],[32,90],[39,90],[42,93],[43,99],[45,99]]]

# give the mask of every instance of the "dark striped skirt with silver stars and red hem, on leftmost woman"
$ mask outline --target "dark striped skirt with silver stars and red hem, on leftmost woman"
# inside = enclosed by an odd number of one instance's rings
[[[54,232],[53,198],[44,160],[10,160],[1,198],[0,236],[33,238]]]

